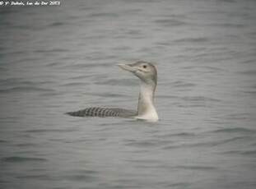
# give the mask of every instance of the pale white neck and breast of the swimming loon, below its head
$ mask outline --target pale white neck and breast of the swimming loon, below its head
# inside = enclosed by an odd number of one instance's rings
[[[137,117],[139,119],[147,119],[157,121],[158,115],[154,106],[154,93],[156,85],[150,85],[141,81],[141,90],[137,104]]]

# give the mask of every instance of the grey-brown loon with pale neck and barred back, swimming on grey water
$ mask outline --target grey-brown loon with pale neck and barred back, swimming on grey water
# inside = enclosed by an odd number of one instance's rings
[[[151,62],[137,61],[131,64],[118,64],[125,71],[132,72],[140,79],[140,93],[137,104],[137,111],[123,108],[101,108],[91,107],[69,112],[68,115],[77,117],[120,117],[136,118],[146,121],[157,121],[158,115],[154,105],[154,96],[157,85],[156,66]]]

